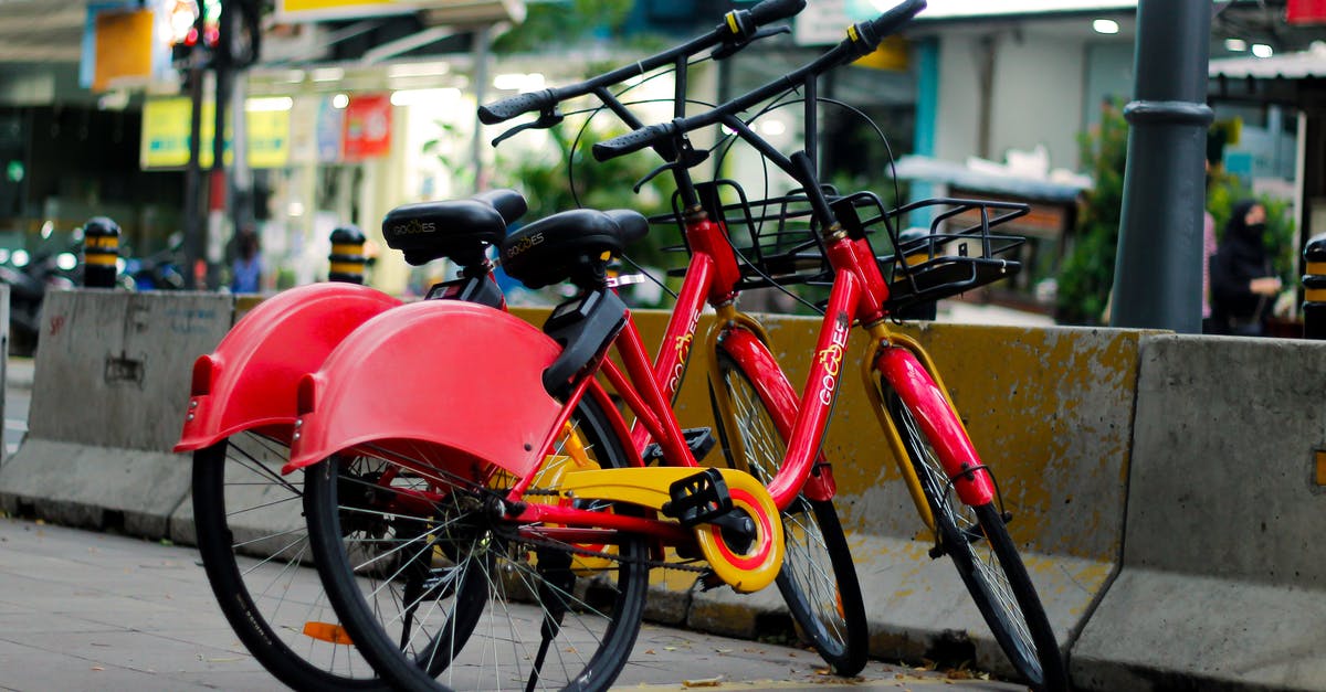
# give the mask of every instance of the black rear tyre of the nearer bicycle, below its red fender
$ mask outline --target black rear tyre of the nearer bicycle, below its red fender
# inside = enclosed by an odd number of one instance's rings
[[[609,431],[610,426],[603,420],[603,414],[593,404],[583,400],[579,407],[579,420],[589,426],[595,435],[595,443],[610,449],[606,457],[611,463],[609,467],[625,465],[626,455],[619,447],[619,440]],[[586,422],[587,420],[587,422]],[[326,473],[330,468],[328,460],[316,467],[316,472],[308,476],[309,484],[305,492],[306,513],[314,558],[320,565],[328,595],[335,606],[337,612],[346,623],[361,652],[378,669],[383,679],[390,681],[396,689],[448,689],[424,672],[418,665],[411,665],[399,654],[396,644],[378,627],[377,615],[362,598],[359,589],[354,585],[354,575],[347,569],[347,555],[339,540],[339,524],[335,504],[335,483]],[[599,643],[598,650],[589,659],[589,664],[564,689],[583,692],[602,692],[611,687],[630,659],[631,648],[639,634],[643,615],[644,599],[648,590],[648,567],[644,565],[647,546],[643,537],[629,540],[621,548],[623,559],[618,561],[619,582],[626,583],[617,597],[614,615],[607,626],[607,632]],[[341,569],[324,569],[326,565],[339,565]],[[436,673],[434,673],[436,675]]]

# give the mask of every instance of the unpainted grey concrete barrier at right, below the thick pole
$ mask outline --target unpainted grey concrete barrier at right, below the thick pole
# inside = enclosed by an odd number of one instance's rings
[[[1326,689],[1326,345],[1142,346],[1123,570],[1083,689]]]

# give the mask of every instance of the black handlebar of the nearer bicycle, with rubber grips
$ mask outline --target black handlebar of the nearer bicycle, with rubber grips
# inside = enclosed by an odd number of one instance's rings
[[[735,113],[754,106],[756,103],[760,103],[761,101],[765,101],[788,87],[798,86],[801,81],[808,77],[817,77],[833,68],[837,68],[838,65],[850,62],[870,53],[879,46],[879,42],[883,41],[886,36],[900,29],[922,9],[926,9],[926,0],[904,0],[874,20],[849,27],[847,38],[829,49],[825,54],[809,65],[804,65],[790,74],[780,77],[778,80],[774,80],[753,91],[748,91],[747,94],[733,98],[732,101],[728,101],[727,103],[723,103],[709,111],[688,118],[676,118],[668,123],[650,125],[625,135],[598,142],[593,148],[594,159],[601,162],[609,160],[633,151],[656,146],[666,138],[676,137],[690,133],[691,130],[697,130],[708,125],[723,122],[727,118],[732,118]]]

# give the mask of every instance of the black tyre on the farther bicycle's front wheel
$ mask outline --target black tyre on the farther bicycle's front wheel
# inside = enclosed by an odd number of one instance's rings
[[[737,373],[737,375],[747,382],[747,386],[751,387],[752,392],[758,391],[753,387],[753,379],[751,375],[741,369],[741,365],[736,358],[724,351],[721,347],[717,349],[716,358],[720,373],[723,373],[725,367],[731,369],[731,371]],[[719,412],[717,402],[713,398],[712,382],[709,383],[709,403],[713,408],[713,420],[716,422],[724,459],[727,460],[729,468],[741,468],[741,465],[737,464],[732,456],[728,433],[723,428],[723,415]],[[732,394],[728,392],[728,396],[731,400]],[[758,403],[772,423],[773,414],[769,411],[768,402],[758,398]],[[773,435],[778,435],[776,430],[770,432]],[[785,452],[786,443],[781,439],[781,436],[778,436],[777,443]],[[751,472],[751,469],[743,471]],[[764,475],[765,473],[756,473],[756,477],[761,483],[768,483],[768,479],[760,477]],[[857,565],[851,557],[847,537],[842,532],[842,524],[838,521],[838,510],[834,508],[831,500],[817,501],[810,500],[804,494],[798,496],[781,516],[785,528],[784,533],[789,536],[789,538],[793,532],[788,528],[788,524],[792,514],[790,510],[794,506],[810,509],[810,512],[800,512],[800,514],[804,514],[813,521],[815,530],[822,538],[822,545],[829,558],[829,566],[834,575],[834,591],[838,598],[838,612],[843,618],[841,628],[845,636],[842,640],[833,640],[826,632],[823,623],[821,623],[815,618],[814,612],[812,612],[813,607],[810,605],[810,598],[806,595],[808,586],[798,583],[793,574],[794,569],[789,569],[788,565],[788,562],[793,559],[790,546],[788,557],[784,558],[784,567],[778,571],[778,577],[774,579],[774,583],[778,586],[778,591],[782,594],[782,599],[788,605],[788,611],[797,623],[798,631],[809,640],[815,651],[819,652],[819,656],[823,658],[830,669],[839,676],[854,676],[866,667],[866,659],[870,654],[870,626],[866,619],[866,607],[865,599],[861,594],[861,582],[857,577]]]

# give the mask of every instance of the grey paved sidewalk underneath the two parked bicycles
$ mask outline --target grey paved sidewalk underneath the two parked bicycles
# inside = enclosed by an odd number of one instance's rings
[[[618,687],[1025,689],[880,663],[846,683],[821,669],[813,651],[647,624]],[[281,685],[231,632],[192,548],[0,518],[0,689]]]

